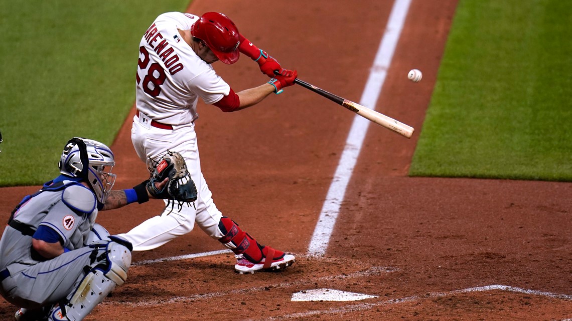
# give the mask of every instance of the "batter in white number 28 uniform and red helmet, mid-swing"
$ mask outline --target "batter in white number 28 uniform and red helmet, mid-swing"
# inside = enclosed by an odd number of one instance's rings
[[[235,91],[210,65],[235,63],[243,53],[256,61],[260,70],[273,77],[251,89]],[[276,75],[275,75],[276,72]],[[276,59],[258,49],[239,33],[236,25],[221,13],[197,17],[188,13],[161,14],[141,39],[136,75],[137,114],[133,118],[132,142],[144,162],[166,150],[185,158],[198,190],[198,199],[181,211],[167,207],[122,234],[134,251],[156,248],[184,235],[194,223],[235,253],[235,270],[240,273],[285,268],[293,255],[262,246],[239,225],[219,211],[201,173],[194,122],[197,101],[202,99],[225,112],[255,105],[272,93],[292,86],[294,70],[282,69]]]

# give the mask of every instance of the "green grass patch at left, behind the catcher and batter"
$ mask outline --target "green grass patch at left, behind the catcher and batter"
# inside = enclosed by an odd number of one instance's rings
[[[0,0],[0,186],[58,174],[63,145],[110,145],[134,102],[137,47],[188,0]]]

